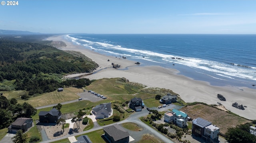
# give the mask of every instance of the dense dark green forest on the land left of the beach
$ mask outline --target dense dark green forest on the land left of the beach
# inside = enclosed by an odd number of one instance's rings
[[[0,37],[0,91],[26,90],[28,95],[34,95],[63,86],[80,87],[81,80],[62,83],[61,78],[68,73],[92,72],[98,67],[85,56],[74,56],[42,44],[49,41],[32,41],[36,40]],[[88,79],[82,81],[83,85],[90,83]]]

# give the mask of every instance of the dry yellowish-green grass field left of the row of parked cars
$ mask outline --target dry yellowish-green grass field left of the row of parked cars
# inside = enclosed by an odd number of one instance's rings
[[[58,104],[66,101],[76,100],[79,96],[76,93],[83,92],[82,89],[78,88],[64,88],[62,92],[49,92],[40,96],[32,97],[28,100],[18,100],[18,103],[28,102],[33,107],[40,107],[50,104]]]

